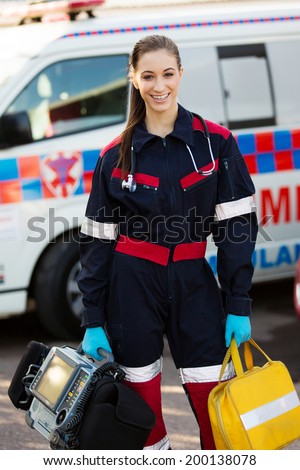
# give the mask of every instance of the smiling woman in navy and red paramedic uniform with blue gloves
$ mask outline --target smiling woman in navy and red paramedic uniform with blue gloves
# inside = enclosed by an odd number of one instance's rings
[[[83,350],[98,359],[99,348],[112,350],[125,383],[155,412],[145,449],[170,448],[164,337],[201,446],[214,449],[208,394],[232,335],[239,345],[251,333],[254,186],[230,131],[178,104],[182,73],[171,39],[136,43],[128,122],[101,152],[81,228]],[[205,259],[210,234],[225,299]],[[232,375],[229,367],[224,378]]]

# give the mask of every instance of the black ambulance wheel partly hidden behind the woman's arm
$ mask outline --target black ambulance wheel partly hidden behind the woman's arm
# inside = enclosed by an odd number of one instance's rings
[[[80,270],[78,237],[59,239],[47,249],[35,274],[34,295],[43,327],[55,338],[77,339],[82,295],[77,286]]]

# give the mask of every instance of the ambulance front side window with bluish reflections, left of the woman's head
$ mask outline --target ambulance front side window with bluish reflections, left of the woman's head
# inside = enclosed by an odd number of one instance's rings
[[[126,55],[64,60],[42,70],[9,106],[26,111],[33,140],[83,132],[126,119]]]

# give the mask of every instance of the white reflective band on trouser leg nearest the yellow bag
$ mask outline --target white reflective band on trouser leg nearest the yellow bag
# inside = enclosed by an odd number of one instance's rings
[[[190,367],[179,369],[182,383],[200,383],[200,382],[217,382],[220,377],[222,364],[217,366],[206,367]],[[234,377],[235,371],[232,362],[227,364],[224,371],[222,381]]]

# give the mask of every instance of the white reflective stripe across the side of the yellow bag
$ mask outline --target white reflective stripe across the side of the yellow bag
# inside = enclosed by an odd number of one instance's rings
[[[293,410],[300,406],[297,392],[294,390],[287,395],[284,395],[276,400],[266,403],[265,405],[254,408],[254,410],[247,411],[241,416],[241,420],[246,430],[252,429],[255,426],[269,421],[270,419],[277,418],[278,416]]]

